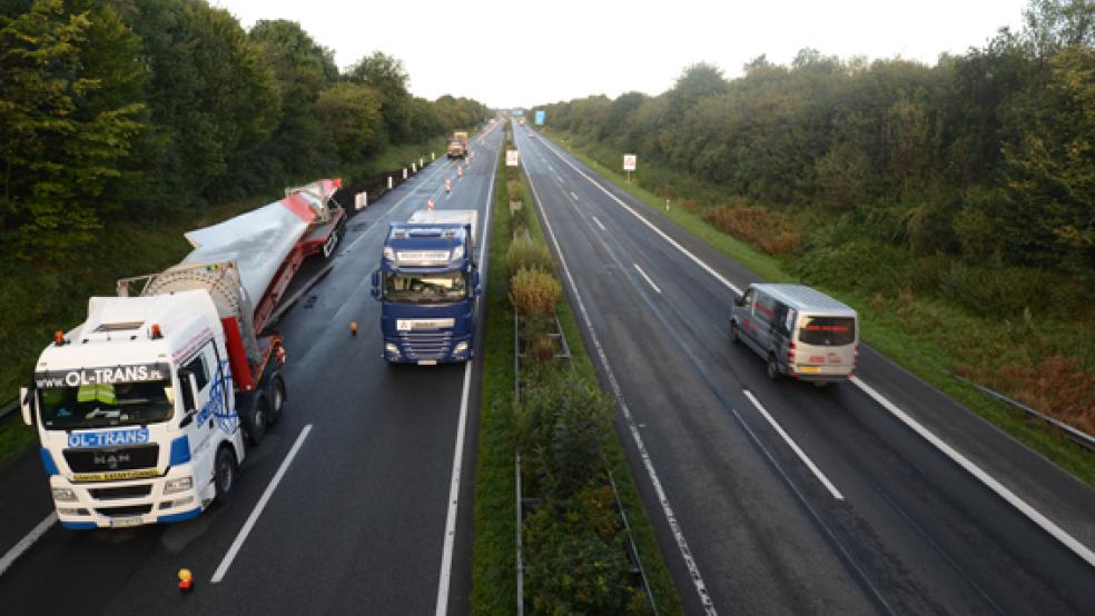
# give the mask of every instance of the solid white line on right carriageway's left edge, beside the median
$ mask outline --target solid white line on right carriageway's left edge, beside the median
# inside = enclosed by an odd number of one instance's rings
[[[540,195],[536,191],[536,185],[532,181],[531,177],[529,177],[529,186],[532,187],[532,195],[536,202],[542,203],[543,201],[540,199]],[[612,387],[612,394],[620,404],[620,411],[628,421],[628,429],[631,431],[631,438],[635,441],[635,449],[639,451],[639,457],[642,458],[642,465],[647,469],[647,476],[650,479],[650,484],[654,488],[654,494],[658,495],[658,503],[661,505],[662,515],[665,516],[665,521],[669,524],[669,528],[677,542],[677,548],[681,553],[681,558],[684,560],[684,566],[688,567],[689,577],[692,578],[692,584],[696,586],[696,593],[700,597],[700,604],[703,606],[703,613],[708,616],[714,616],[717,614],[714,609],[714,602],[711,600],[711,596],[708,594],[707,584],[703,582],[703,576],[700,575],[700,567],[696,564],[696,558],[692,557],[692,550],[688,547],[688,542],[684,539],[684,531],[681,530],[680,523],[677,521],[677,514],[673,513],[673,507],[669,503],[669,497],[665,495],[665,489],[662,487],[661,479],[658,478],[658,471],[654,470],[654,463],[650,459],[650,453],[647,451],[647,446],[643,444],[642,437],[639,435],[639,426],[631,416],[631,409],[628,407],[628,403],[623,398],[623,390],[620,388],[620,381],[616,380],[615,372],[612,370],[612,365],[609,364],[609,357],[604,352],[604,347],[601,346],[601,339],[598,337],[596,330],[593,329],[593,321],[590,319],[589,311],[585,310],[585,302],[582,300],[582,294],[579,292],[578,285],[574,284],[574,277],[571,276],[570,268],[566,267],[566,259],[563,257],[563,251],[559,247],[559,240],[555,239],[555,231],[552,230],[551,222],[548,220],[548,212],[545,210],[541,210],[541,212],[543,213],[544,228],[548,229],[548,235],[551,237],[551,242],[555,247],[555,254],[559,256],[559,262],[563,266],[563,272],[566,275],[566,282],[570,285],[571,291],[574,294],[574,299],[578,301],[578,308],[582,314],[582,320],[585,324],[585,329],[590,332],[590,340],[593,342],[593,348],[596,349],[598,359],[600,359],[601,365],[604,366],[604,374],[609,379],[609,385]]]

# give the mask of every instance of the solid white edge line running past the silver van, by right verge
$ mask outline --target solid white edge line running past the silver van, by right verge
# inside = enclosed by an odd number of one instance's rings
[[[689,252],[684,247],[682,247],[680,244],[678,244],[671,237],[667,236],[661,229],[659,229],[659,228],[654,227],[653,225],[651,225],[650,221],[648,221],[645,218],[643,218],[642,216],[640,216],[639,212],[637,212],[630,206],[628,206],[622,200],[620,200],[615,195],[612,195],[611,192],[609,192],[609,190],[605,189],[600,183],[598,183],[596,180],[594,180],[593,178],[591,178],[591,177],[586,176],[585,173],[583,173],[581,169],[579,169],[578,167],[575,167],[571,161],[566,160],[565,157],[563,157],[562,155],[560,155],[559,152],[556,152],[554,150],[554,146],[552,143],[548,143],[548,150],[551,151],[552,153],[554,153],[556,158],[559,158],[560,160],[562,160],[563,162],[565,162],[566,165],[569,165],[572,169],[574,169],[575,171],[578,171],[578,173],[580,176],[582,176],[583,178],[585,178],[586,180],[589,180],[590,183],[592,183],[593,186],[600,188],[602,192],[604,192],[605,195],[608,195],[610,198],[612,198],[612,200],[614,200],[616,203],[619,203],[625,210],[628,210],[629,212],[631,212],[632,216],[634,216],[635,218],[638,218],[639,220],[641,220],[644,225],[647,225],[647,227],[651,228],[654,232],[657,232],[659,236],[661,236],[665,241],[668,241],[674,248],[677,248],[678,250],[680,250],[681,252],[683,252],[685,256],[688,256],[693,262],[696,262],[698,266],[700,266],[704,271],[707,271],[708,274],[710,274],[711,276],[713,276],[716,279],[718,279],[720,282],[722,282],[723,285],[726,285],[727,287],[729,287],[730,289],[733,289],[733,291],[737,292],[738,295],[741,295],[741,289],[739,289],[732,282],[730,282],[729,280],[727,280],[719,272],[717,272],[713,269],[711,269],[711,266],[707,265],[706,262],[703,262],[702,260],[700,260],[698,257],[696,257],[694,255],[692,255],[691,252]],[[1035,509],[1034,507],[1032,507],[1030,505],[1028,505],[1026,501],[1024,501],[1022,498],[1019,498],[1018,496],[1016,496],[1012,490],[1009,490],[1007,487],[1005,487],[1003,484],[1000,484],[992,475],[989,475],[988,473],[981,470],[977,465],[975,465],[974,463],[969,461],[965,456],[963,456],[956,449],[954,449],[953,447],[950,447],[949,445],[947,445],[941,438],[937,437],[934,433],[931,433],[930,430],[928,430],[927,428],[925,428],[924,426],[921,426],[919,423],[917,423],[915,419],[912,419],[911,416],[909,416],[904,410],[901,410],[900,408],[898,408],[897,405],[895,405],[894,403],[889,401],[885,396],[882,396],[881,394],[879,394],[878,391],[876,391],[874,388],[871,388],[869,385],[867,385],[866,382],[864,382],[862,380],[860,380],[859,377],[852,377],[851,378],[851,382],[856,384],[857,387],[859,387],[867,395],[869,395],[871,398],[874,398],[879,405],[882,406],[882,408],[885,408],[886,410],[890,411],[890,414],[892,414],[895,417],[897,417],[898,419],[900,419],[901,421],[904,421],[907,426],[909,426],[910,428],[912,428],[912,430],[916,431],[918,435],[920,435],[921,438],[924,438],[928,443],[935,445],[937,449],[939,449],[940,451],[943,451],[945,455],[947,455],[948,457],[950,457],[950,459],[953,459],[959,466],[961,466],[963,468],[965,468],[967,473],[969,473],[970,475],[973,475],[974,477],[976,477],[978,480],[980,480],[981,484],[984,484],[990,490],[995,491],[1000,498],[1003,498],[1004,500],[1006,500],[1013,507],[1015,507],[1016,509],[1018,509],[1023,515],[1025,515],[1032,521],[1034,521],[1039,527],[1042,527],[1043,530],[1045,530],[1046,533],[1048,533],[1049,535],[1052,535],[1054,538],[1056,538],[1058,542],[1061,542],[1065,547],[1067,547],[1073,553],[1075,553],[1077,556],[1079,556],[1085,562],[1087,562],[1087,564],[1089,564],[1092,566],[1095,566],[1095,552],[1092,552],[1087,546],[1085,546],[1084,544],[1082,544],[1078,540],[1076,540],[1075,538],[1073,538],[1071,535],[1068,535],[1068,533],[1066,533],[1059,526],[1057,526],[1056,524],[1054,524],[1053,520],[1050,520],[1049,518],[1047,518],[1046,516],[1044,516],[1042,513],[1039,513],[1037,509]]]

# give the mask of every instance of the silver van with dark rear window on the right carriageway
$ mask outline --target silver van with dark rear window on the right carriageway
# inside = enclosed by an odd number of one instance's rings
[[[768,364],[768,377],[844,380],[859,359],[859,316],[802,285],[749,285],[734,301],[730,340],[743,341]]]

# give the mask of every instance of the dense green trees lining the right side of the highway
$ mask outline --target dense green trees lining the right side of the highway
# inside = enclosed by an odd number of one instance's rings
[[[659,96],[539,108],[672,172],[648,186],[699,180],[803,227],[839,220],[914,256],[1050,268],[1091,288],[1095,2],[1033,0],[1024,18],[935,66],[805,49],[736,79],[699,63]]]

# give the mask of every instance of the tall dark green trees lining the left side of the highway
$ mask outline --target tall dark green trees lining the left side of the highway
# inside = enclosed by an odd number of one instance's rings
[[[411,95],[379,51],[339,71],[296,22],[205,0],[0,0],[0,246],[59,261],[116,217],[318,176],[489,109]]]

